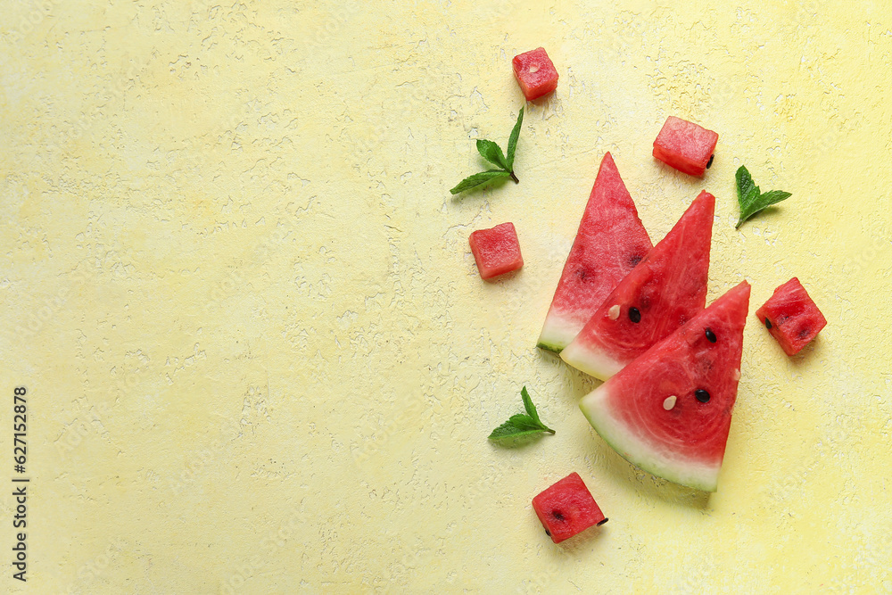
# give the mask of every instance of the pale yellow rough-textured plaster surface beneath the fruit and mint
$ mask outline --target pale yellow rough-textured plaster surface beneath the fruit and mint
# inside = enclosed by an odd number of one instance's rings
[[[0,0],[0,590],[892,592],[888,4],[668,4]],[[538,45],[520,184],[453,199]],[[719,133],[703,180],[651,157],[670,114]],[[789,359],[750,315],[711,497],[535,348],[605,151],[655,241],[717,196],[710,301],[796,275],[829,321]],[[740,164],[793,197],[736,231]],[[524,384],[558,434],[497,448]],[[556,546],[571,471],[611,520]]]

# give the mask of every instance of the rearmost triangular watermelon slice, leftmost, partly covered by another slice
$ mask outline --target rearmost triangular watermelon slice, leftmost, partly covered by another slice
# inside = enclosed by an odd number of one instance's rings
[[[607,293],[651,247],[613,157],[605,153],[539,335],[539,346],[556,353],[564,349]]]

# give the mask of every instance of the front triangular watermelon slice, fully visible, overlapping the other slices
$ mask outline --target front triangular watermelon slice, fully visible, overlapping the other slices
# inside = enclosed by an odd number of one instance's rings
[[[748,307],[744,281],[583,397],[591,426],[645,471],[715,492]]]

